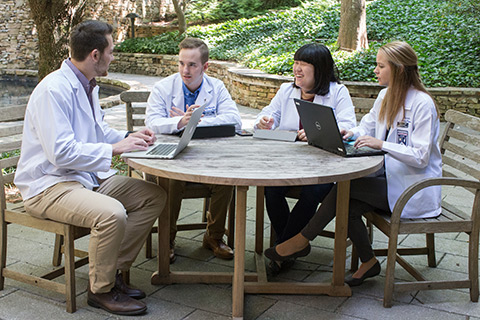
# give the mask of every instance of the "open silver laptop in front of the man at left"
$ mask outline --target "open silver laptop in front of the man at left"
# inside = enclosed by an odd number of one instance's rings
[[[205,105],[193,111],[192,117],[188,121],[182,137],[178,143],[155,143],[146,151],[132,151],[122,153],[123,158],[147,158],[147,159],[173,159],[183,151],[192,140],[193,133],[197,128],[198,122],[205,110]]]

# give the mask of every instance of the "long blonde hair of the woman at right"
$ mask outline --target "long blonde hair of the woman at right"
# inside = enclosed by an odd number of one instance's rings
[[[402,111],[405,116],[405,99],[410,87],[425,92],[430,97],[427,89],[420,79],[418,72],[418,59],[412,47],[403,41],[393,41],[380,47],[390,66],[390,79],[388,81],[388,91],[382,101],[379,120],[387,123],[387,128],[391,128],[395,117]],[[432,98],[433,100],[433,98]],[[435,103],[435,102],[434,102]],[[437,106],[435,105],[435,108]],[[437,117],[439,116],[437,108]]]

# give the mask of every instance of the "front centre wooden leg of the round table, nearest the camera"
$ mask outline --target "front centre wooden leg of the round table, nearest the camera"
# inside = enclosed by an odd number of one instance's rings
[[[232,285],[232,316],[243,319],[245,295],[245,233],[247,223],[248,187],[237,187],[237,209],[235,212],[235,264]]]

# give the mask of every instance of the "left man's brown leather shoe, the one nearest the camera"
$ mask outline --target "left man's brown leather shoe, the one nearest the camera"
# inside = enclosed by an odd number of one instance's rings
[[[101,308],[113,314],[136,316],[147,311],[145,303],[130,298],[117,290],[112,289],[107,293],[93,293],[88,290],[87,303],[95,308]]]

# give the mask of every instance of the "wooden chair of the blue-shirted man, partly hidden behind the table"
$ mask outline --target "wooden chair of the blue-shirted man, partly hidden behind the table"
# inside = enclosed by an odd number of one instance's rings
[[[135,127],[143,127],[145,126],[145,111],[146,111],[146,102],[150,95],[150,91],[125,91],[120,94],[120,100],[125,102],[126,107],[126,118],[127,118],[127,130],[133,131]],[[132,176],[134,173],[131,171],[131,168],[128,168],[129,175]],[[142,173],[137,173],[139,176],[143,176],[143,178],[147,178],[148,180],[157,181],[157,178],[154,177],[145,177]],[[158,181],[157,181],[158,183]],[[210,206],[210,197],[211,193],[208,188],[206,188],[203,184],[200,183],[187,183],[187,187],[185,190],[185,195],[183,199],[198,199],[204,198],[203,203],[203,214],[202,214],[202,221],[199,223],[188,223],[188,224],[178,224],[177,230],[178,231],[186,231],[186,230],[197,230],[197,229],[205,229],[207,227],[207,211],[209,210]],[[235,224],[235,195],[232,197],[232,202],[230,203],[230,208],[228,211],[228,222],[227,222],[227,243],[230,248],[233,248],[234,245],[234,237],[233,237],[233,230]],[[150,235],[146,241],[146,257],[152,258],[153,257],[153,250],[152,250],[152,234],[158,233],[158,228],[154,226]]]

